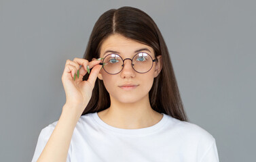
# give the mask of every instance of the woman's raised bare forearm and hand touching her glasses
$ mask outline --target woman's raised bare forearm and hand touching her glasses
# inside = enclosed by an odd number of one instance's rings
[[[73,61],[69,59],[66,61],[62,74],[66,103],[62,108],[60,119],[37,161],[67,161],[73,131],[92,97],[92,90],[102,67],[98,65],[99,63],[100,59],[89,62],[86,59],[75,58]],[[88,80],[83,80],[83,76],[87,73],[87,65],[92,68],[92,72]],[[84,66],[84,68],[79,66]],[[79,72],[79,70],[81,71]]]

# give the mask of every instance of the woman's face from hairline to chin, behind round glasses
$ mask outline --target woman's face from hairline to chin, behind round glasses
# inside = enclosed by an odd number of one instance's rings
[[[151,55],[152,59],[156,59],[154,51],[151,47],[133,41],[130,38],[126,38],[121,34],[113,34],[109,36],[101,45],[100,57],[103,58],[106,55],[113,53],[105,53],[106,51],[116,51],[118,53],[113,54],[120,55],[122,59],[132,59],[132,57],[136,54],[134,51],[145,48],[149,51],[143,50],[140,52],[145,52]],[[121,103],[134,103],[143,98],[145,99],[145,97],[148,97],[149,90],[153,84],[153,78],[156,78],[162,69],[161,55],[158,56],[158,63],[153,62],[153,67],[151,70],[144,74],[140,74],[133,70],[130,59],[126,59],[124,61],[124,68],[118,74],[108,74],[103,68],[98,74],[98,78],[103,80],[111,100],[114,98]],[[138,86],[127,90],[120,87],[123,84],[136,84]]]

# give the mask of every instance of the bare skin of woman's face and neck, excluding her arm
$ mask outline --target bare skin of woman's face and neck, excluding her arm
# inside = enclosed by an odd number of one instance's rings
[[[134,51],[143,48],[149,49],[150,52],[142,52],[148,53],[153,59],[156,58],[153,48],[121,34],[112,34],[100,47],[100,57],[105,57],[109,54],[105,51],[111,50],[119,52],[123,59],[132,59],[136,54]],[[156,78],[161,70],[161,55],[158,56],[158,63],[154,62],[151,70],[145,74],[135,72],[128,59],[124,61],[124,68],[119,74],[111,75],[103,69],[100,70],[98,78],[103,80],[111,99],[110,107],[98,112],[100,119],[110,126],[123,129],[147,128],[157,124],[163,115],[151,108],[149,90],[153,85],[153,78]],[[123,90],[119,87],[127,82],[139,84],[139,86],[132,90]]]

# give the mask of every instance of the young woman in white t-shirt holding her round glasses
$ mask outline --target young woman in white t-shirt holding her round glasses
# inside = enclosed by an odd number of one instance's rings
[[[219,161],[215,138],[187,121],[164,38],[140,9],[100,16],[62,84],[60,119],[32,161]]]

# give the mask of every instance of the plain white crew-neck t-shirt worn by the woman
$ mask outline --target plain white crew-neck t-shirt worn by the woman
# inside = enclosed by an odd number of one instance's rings
[[[67,161],[219,162],[211,134],[196,124],[162,114],[157,124],[130,130],[108,125],[98,113],[82,115],[71,138]],[[56,124],[41,130],[32,161],[37,161]]]

